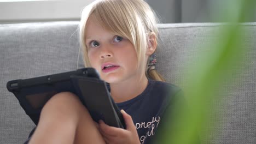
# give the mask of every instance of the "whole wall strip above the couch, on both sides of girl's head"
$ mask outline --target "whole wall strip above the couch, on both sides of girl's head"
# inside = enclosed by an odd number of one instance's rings
[[[79,20],[82,8],[92,1],[94,0],[0,2],[0,23]],[[156,11],[162,23],[212,22],[210,14],[214,9],[218,9],[213,5],[223,2],[222,0],[145,1]],[[248,21],[256,21],[256,5],[254,12],[251,13],[254,13],[254,19]]]

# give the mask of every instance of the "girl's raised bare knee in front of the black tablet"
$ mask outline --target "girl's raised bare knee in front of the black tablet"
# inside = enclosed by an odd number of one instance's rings
[[[42,137],[44,139],[46,137],[50,140],[65,140],[72,143],[79,122],[79,112],[76,107],[79,103],[79,99],[73,93],[62,92],[54,95],[40,113],[39,123],[32,140],[40,142]]]

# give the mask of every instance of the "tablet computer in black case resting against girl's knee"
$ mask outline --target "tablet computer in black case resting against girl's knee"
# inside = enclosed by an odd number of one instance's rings
[[[107,83],[100,79],[94,68],[11,80],[7,82],[7,89],[15,95],[36,125],[44,104],[51,97],[60,92],[72,92],[86,106],[95,122],[102,119],[110,126],[126,128],[123,115],[110,96]]]

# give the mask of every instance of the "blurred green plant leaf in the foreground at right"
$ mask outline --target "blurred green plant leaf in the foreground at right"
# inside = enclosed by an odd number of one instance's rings
[[[226,3],[225,3],[226,2]],[[242,56],[248,52],[241,47],[245,33],[240,22],[244,22],[252,14],[256,5],[255,0],[246,1],[224,1],[223,7],[226,11],[232,13],[223,13],[222,19],[228,19],[230,22],[220,27],[217,41],[207,45],[210,51],[199,53],[203,61],[196,61],[196,66],[186,68],[189,71],[190,79],[183,82],[185,98],[188,107],[184,108],[179,105],[171,107],[176,109],[177,113],[168,116],[164,125],[160,125],[158,139],[156,143],[177,143],[189,144],[198,143],[199,136],[202,136],[201,130],[207,123],[207,110],[210,110],[209,101],[218,99],[218,89],[221,89],[223,82],[235,79],[230,75],[242,61]],[[231,7],[236,5],[236,9]],[[238,8],[237,8],[238,6]],[[181,82],[182,83],[182,82]],[[169,110],[168,112],[173,112]]]

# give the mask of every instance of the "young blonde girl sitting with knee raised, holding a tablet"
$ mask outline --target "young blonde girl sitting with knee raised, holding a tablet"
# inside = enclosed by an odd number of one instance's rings
[[[80,23],[85,67],[97,69],[109,83],[127,128],[94,122],[74,94],[62,92],[43,107],[30,143],[149,143],[178,91],[154,69],[157,37],[154,13],[142,0],[85,7]]]

